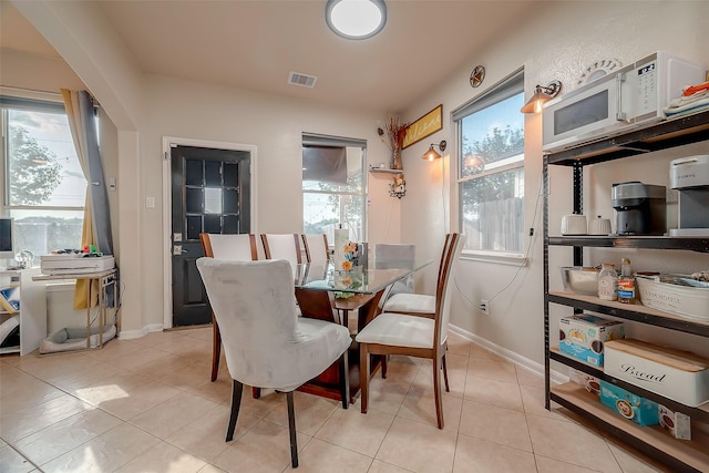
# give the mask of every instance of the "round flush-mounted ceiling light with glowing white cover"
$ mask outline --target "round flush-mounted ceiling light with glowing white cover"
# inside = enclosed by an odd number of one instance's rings
[[[366,40],[384,28],[387,6],[384,0],[328,0],[325,21],[337,35]]]

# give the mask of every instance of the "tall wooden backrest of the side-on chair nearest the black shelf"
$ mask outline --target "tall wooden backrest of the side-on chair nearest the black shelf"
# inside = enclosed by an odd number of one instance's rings
[[[453,285],[451,284],[455,277],[455,269],[463,250],[465,235],[449,234],[443,245],[443,254],[441,257],[441,267],[439,268],[439,281],[435,289],[435,329],[434,340],[438,340],[438,347],[442,347],[448,338],[448,325],[451,317],[451,295]],[[436,343],[434,342],[434,346]]]

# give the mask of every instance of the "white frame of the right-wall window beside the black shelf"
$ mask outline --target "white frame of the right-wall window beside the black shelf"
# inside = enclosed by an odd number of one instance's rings
[[[522,146],[522,152],[508,157],[505,157],[501,161],[505,161],[508,158],[514,158],[518,156],[518,160],[500,164],[496,166],[486,167],[479,174],[463,176],[463,160],[464,160],[464,151],[463,151],[463,120],[474,113],[481,112],[490,106],[493,106],[497,103],[501,103],[507,99],[522,94],[524,99],[524,69],[521,68],[507,76],[503,78],[495,84],[491,85],[486,91],[484,91],[481,95],[472,99],[465,104],[461,105],[456,110],[452,112],[452,120],[455,124],[456,130],[456,138],[458,138],[458,175],[456,175],[456,186],[458,186],[458,226],[463,229],[463,209],[464,209],[464,192],[463,186],[475,179],[486,178],[493,175],[497,175],[501,173],[522,169],[522,186],[523,186],[523,195],[522,195],[522,227],[520,230],[520,250],[493,250],[493,249],[470,249],[463,248],[462,258],[471,259],[471,260],[482,260],[489,263],[499,263],[499,264],[508,264],[518,266],[520,261],[524,263],[526,258],[525,250],[525,238],[527,238],[526,233],[524,232],[524,186],[525,186],[525,153],[524,153],[524,144]],[[524,121],[522,127],[522,134],[524,136]]]

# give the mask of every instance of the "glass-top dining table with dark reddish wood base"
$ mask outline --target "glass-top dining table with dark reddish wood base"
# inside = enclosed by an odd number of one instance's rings
[[[331,260],[296,265],[296,299],[302,317],[342,323],[350,329],[353,338],[377,316],[379,301],[389,286],[431,263],[433,261],[419,259],[387,261],[354,266],[349,271],[336,270]],[[350,312],[357,312],[356,323],[350,323]],[[350,346],[348,360],[347,369],[340,362],[335,362],[299,390],[341,401],[347,409],[359,392],[359,346],[354,340]],[[372,373],[380,367],[386,376],[382,360],[372,359]]]

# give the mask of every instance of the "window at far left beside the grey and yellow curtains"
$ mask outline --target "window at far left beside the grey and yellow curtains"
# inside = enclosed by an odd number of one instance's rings
[[[1,96],[3,215],[14,218],[14,248],[39,256],[78,248],[84,178],[61,102]]]

